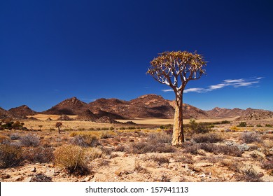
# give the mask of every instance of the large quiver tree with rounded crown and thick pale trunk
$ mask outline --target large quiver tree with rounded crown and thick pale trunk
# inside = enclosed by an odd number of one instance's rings
[[[172,145],[181,146],[185,141],[183,129],[183,91],[190,80],[199,79],[204,73],[202,55],[187,51],[163,52],[151,61],[149,74],[158,82],[168,85],[175,94],[174,128]]]

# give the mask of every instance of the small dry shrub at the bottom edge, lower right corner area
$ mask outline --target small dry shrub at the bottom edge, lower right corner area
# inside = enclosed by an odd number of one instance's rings
[[[236,177],[238,181],[244,181],[244,182],[262,182],[262,179],[260,179],[263,174],[258,173],[253,169],[253,167],[248,167],[242,171],[243,174],[240,174]]]

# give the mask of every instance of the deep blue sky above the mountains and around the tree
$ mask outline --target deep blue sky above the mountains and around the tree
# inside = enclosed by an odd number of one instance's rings
[[[197,50],[207,76],[188,83],[194,92],[184,102],[273,111],[272,10],[270,0],[0,1],[0,106],[174,99],[146,75],[149,62],[166,50]]]

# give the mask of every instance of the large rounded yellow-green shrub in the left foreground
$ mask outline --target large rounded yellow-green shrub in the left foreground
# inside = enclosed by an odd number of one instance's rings
[[[64,145],[56,149],[55,164],[74,174],[87,174],[89,169],[87,163],[90,155],[85,148],[75,145]]]

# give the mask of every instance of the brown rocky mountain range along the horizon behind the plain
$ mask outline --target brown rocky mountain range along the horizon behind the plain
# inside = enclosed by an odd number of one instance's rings
[[[272,111],[260,109],[221,109],[214,108],[209,111],[197,109],[194,106],[183,104],[184,118],[232,118],[239,117],[239,120],[258,120],[273,118]],[[173,118],[174,101],[164,99],[156,94],[146,94],[130,101],[120,99],[97,99],[94,102],[85,103],[72,97],[51,109],[36,112],[28,106],[19,106],[8,111],[0,108],[0,118],[27,118],[37,113],[53,115],[75,115],[77,120],[95,121],[102,117],[113,119],[133,119],[133,118]]]

